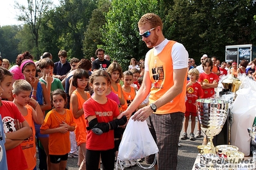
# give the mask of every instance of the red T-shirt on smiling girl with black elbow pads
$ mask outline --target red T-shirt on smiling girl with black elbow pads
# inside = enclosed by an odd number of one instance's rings
[[[83,104],[83,112],[85,113],[85,119],[88,116],[96,116],[99,123],[114,120],[119,115],[119,109],[117,103],[114,100],[108,98],[106,104],[99,104],[93,98],[89,98]],[[87,121],[87,127],[89,122]],[[96,135],[92,130],[87,132],[86,148],[88,150],[111,150],[114,148],[114,130],[109,130],[101,135]]]

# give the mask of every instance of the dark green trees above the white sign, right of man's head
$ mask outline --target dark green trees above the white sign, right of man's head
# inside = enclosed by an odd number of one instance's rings
[[[174,23],[171,38],[183,43],[191,58],[202,54],[225,60],[225,45],[255,42],[255,4],[241,1],[174,0],[166,22]]]

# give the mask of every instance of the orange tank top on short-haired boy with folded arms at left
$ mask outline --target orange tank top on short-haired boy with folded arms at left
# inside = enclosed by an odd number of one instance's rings
[[[24,116],[24,118],[26,119],[26,121],[28,121],[28,125],[30,125],[32,135],[21,143],[21,148],[28,164],[28,170],[32,170],[37,165],[37,149],[35,146],[35,125],[32,118],[32,107],[30,105],[26,105],[26,108],[28,114]]]

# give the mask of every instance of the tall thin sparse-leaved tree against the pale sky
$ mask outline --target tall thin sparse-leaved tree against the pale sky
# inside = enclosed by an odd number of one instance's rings
[[[40,56],[39,52],[39,29],[42,24],[42,17],[44,13],[51,7],[51,1],[49,0],[27,0],[28,4],[19,4],[15,1],[15,8],[20,10],[18,20],[24,21],[30,28],[30,33],[33,36],[35,42],[35,59]]]

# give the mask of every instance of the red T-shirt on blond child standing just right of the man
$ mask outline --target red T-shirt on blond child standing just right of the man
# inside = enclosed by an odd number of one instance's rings
[[[189,83],[189,81],[187,81]],[[196,99],[203,97],[201,84],[195,82],[187,88],[186,112],[196,112]]]

